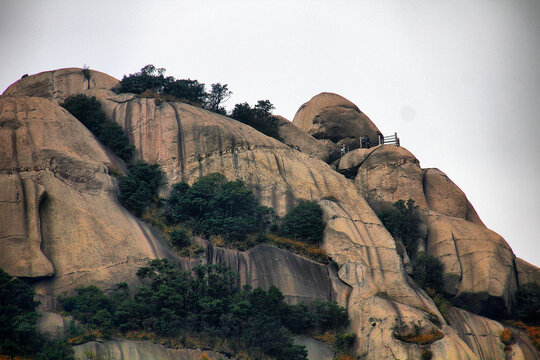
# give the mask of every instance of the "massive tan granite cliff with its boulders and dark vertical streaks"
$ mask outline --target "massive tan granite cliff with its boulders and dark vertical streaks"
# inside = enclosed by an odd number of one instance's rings
[[[444,263],[445,291],[474,311],[489,315],[492,304],[510,309],[518,284],[539,281],[538,268],[519,259],[514,266],[509,246],[482,224],[461,190],[444,173],[420,168],[403,148],[387,145],[346,154],[336,165],[352,179],[326,164],[336,144],[357,143],[363,134],[376,138],[377,128],[354,104],[334,94],[315,97],[295,116],[299,129],[280,122],[286,145],[187,104],[157,105],[154,99],[115,94],[110,89],[116,84],[102,73],[91,71],[88,80],[81,69],[64,69],[24,78],[0,98],[0,182],[6,184],[0,187],[0,201],[7,204],[0,209],[0,231],[7,239],[0,242],[0,266],[13,275],[37,277],[39,294],[134,280],[135,268],[150,258],[192,266],[119,205],[109,171],[125,165],[57,105],[84,93],[96,96],[107,116],[124,128],[137,158],[161,165],[168,186],[220,172],[248,183],[279,215],[301,199],[319,202],[326,221],[322,247],[337,268],[267,245],[247,252],[209,247],[206,258],[229,265],[243,283],[277,285],[291,303],[338,301],[349,312],[361,358],[420,358],[418,345],[392,335],[402,321],[418,324],[425,333],[440,327],[444,337],[430,346],[434,359],[504,359],[504,352],[494,350],[502,346],[500,324],[489,320],[495,325],[482,331],[492,340],[482,345],[474,345],[474,335],[453,320],[446,324],[407,276],[394,239],[375,211],[399,199],[416,201],[425,223],[420,246]],[[347,128],[354,129],[350,137],[343,135]],[[294,134],[302,130],[313,137],[301,132],[295,145]],[[381,292],[386,298],[376,295]],[[480,332],[471,328],[472,334]]]

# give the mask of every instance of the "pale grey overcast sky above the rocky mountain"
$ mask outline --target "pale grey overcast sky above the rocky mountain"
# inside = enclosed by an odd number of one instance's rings
[[[0,92],[23,74],[147,64],[269,99],[335,92],[540,265],[540,1],[0,0]]]

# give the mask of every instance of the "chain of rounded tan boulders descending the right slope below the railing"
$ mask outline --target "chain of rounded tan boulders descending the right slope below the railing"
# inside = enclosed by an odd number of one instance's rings
[[[503,238],[484,226],[465,194],[443,172],[421,169],[402,147],[368,151],[355,185],[378,212],[400,199],[415,200],[427,225],[423,247],[445,267],[445,291],[475,312],[493,315],[510,309],[517,288],[514,255]],[[342,160],[346,164],[348,158]]]

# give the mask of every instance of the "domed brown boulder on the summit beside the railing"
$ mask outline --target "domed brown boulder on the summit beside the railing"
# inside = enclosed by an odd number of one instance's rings
[[[321,93],[303,104],[296,112],[293,124],[316,139],[328,139],[360,147],[358,141],[368,135],[372,144],[378,143],[379,129],[356,105],[342,96]]]

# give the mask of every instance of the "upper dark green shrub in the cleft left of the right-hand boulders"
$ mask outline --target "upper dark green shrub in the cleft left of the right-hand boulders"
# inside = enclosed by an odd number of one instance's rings
[[[421,222],[418,206],[414,205],[414,200],[409,199],[407,202],[404,200],[396,201],[393,209],[385,211],[379,218],[393,237],[400,238],[403,241],[407,254],[414,258],[417,239],[420,236],[418,226]]]

